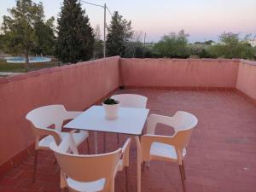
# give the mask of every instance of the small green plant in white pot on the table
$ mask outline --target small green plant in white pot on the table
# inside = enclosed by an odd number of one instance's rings
[[[119,101],[116,101],[112,98],[107,98],[102,106],[105,108],[106,118],[109,120],[117,119],[118,110],[119,110]]]

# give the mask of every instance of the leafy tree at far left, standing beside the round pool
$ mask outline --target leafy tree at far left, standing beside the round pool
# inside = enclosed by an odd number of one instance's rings
[[[16,7],[9,9],[11,16],[3,16],[3,49],[14,55],[26,56],[26,71],[29,70],[29,53],[36,43],[35,23],[44,15],[42,3],[18,0]]]

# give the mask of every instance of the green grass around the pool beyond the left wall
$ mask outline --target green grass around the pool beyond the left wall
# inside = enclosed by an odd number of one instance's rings
[[[57,61],[30,63],[30,71],[58,66]],[[0,60],[0,72],[26,73],[25,63],[8,63]]]

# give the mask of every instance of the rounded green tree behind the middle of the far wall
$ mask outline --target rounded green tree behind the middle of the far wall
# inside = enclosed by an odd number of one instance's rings
[[[189,34],[186,34],[184,30],[164,35],[160,42],[154,44],[154,53],[160,57],[188,58],[188,38]]]

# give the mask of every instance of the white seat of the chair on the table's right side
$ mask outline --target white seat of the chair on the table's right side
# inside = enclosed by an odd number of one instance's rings
[[[152,143],[150,155],[162,157],[167,160],[177,160],[175,148],[165,143]],[[183,149],[183,157],[186,155],[186,149]]]

